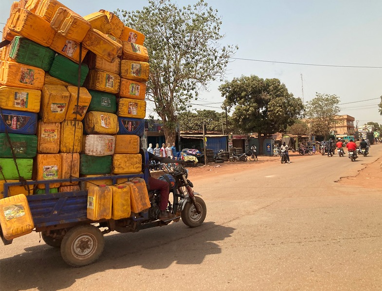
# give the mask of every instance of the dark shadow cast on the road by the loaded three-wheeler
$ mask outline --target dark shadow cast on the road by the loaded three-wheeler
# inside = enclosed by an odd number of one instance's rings
[[[105,249],[99,260],[82,268],[69,267],[59,249],[46,244],[28,247],[25,253],[0,260],[1,290],[61,290],[71,288],[79,278],[94,274],[102,277],[102,272],[110,269],[142,266],[158,270],[174,263],[198,265],[207,255],[221,253],[216,242],[231,237],[234,230],[206,222],[196,228],[172,223],[138,233],[112,233],[105,236]],[[101,277],[94,279],[102,280]]]

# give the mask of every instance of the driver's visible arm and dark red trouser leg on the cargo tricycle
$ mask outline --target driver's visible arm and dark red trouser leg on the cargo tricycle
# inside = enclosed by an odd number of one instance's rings
[[[184,163],[184,161],[179,160],[172,160],[170,158],[157,156],[155,154],[147,153],[149,161],[156,161],[160,163]],[[167,212],[166,208],[168,205],[168,196],[170,195],[170,186],[167,182],[156,179],[154,177],[151,177],[151,175],[148,177],[148,190],[159,190],[161,193],[161,202],[159,205],[160,213],[158,215],[159,220],[170,220],[175,218],[175,215]]]

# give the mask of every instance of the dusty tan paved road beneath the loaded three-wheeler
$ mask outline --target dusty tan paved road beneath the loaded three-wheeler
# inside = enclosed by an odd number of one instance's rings
[[[83,268],[32,233],[0,245],[0,289],[382,290],[382,185],[334,182],[381,156],[377,145],[353,163],[316,154],[194,179],[202,226],[109,234]]]

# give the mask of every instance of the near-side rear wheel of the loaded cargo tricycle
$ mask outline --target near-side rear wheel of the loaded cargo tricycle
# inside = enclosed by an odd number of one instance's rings
[[[90,265],[101,256],[105,241],[102,232],[91,224],[73,227],[61,243],[61,257],[72,267]]]

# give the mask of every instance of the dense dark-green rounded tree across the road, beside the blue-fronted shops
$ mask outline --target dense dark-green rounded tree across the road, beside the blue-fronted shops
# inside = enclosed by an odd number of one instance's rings
[[[234,78],[219,86],[224,106],[231,110],[235,125],[243,132],[256,132],[260,152],[263,139],[276,132],[285,132],[300,116],[304,105],[294,98],[278,79],[261,79],[255,75]]]

